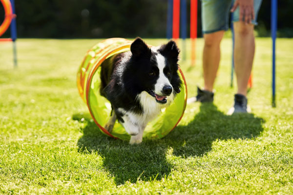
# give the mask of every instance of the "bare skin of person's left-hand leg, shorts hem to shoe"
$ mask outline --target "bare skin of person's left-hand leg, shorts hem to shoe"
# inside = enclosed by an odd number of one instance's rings
[[[205,90],[212,91],[220,63],[220,43],[224,31],[204,34],[205,46],[203,53],[203,72]]]

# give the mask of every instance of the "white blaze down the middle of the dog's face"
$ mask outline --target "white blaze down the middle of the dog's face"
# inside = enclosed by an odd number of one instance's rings
[[[158,63],[158,68],[159,68],[159,78],[155,84],[155,93],[158,94],[159,96],[162,96],[162,89],[165,85],[169,85],[172,86],[170,84],[169,79],[165,76],[163,70],[166,66],[166,59],[164,56],[162,56],[161,54],[157,54],[156,55],[156,59],[157,59],[157,63]],[[173,89],[173,88],[172,88]]]

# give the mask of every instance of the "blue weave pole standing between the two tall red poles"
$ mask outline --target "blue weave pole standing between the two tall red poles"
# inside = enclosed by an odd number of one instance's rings
[[[187,3],[186,0],[180,1],[180,15],[181,15],[181,38],[182,42],[182,59],[186,60],[186,38],[187,38]]]

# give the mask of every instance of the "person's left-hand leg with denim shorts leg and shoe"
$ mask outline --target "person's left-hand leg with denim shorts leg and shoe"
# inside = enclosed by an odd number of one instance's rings
[[[229,10],[232,0],[201,0],[202,30],[204,34],[203,74],[204,90],[197,88],[197,96],[188,98],[194,101],[212,102],[213,85],[220,62],[220,43],[224,31],[229,29]]]

